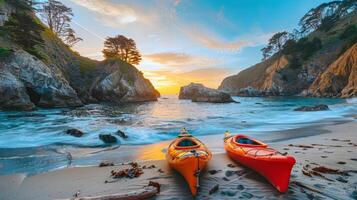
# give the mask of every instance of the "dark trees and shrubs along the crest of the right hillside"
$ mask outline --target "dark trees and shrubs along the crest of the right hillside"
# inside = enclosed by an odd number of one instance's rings
[[[323,3],[307,12],[299,22],[299,29],[292,33],[278,32],[272,36],[269,43],[261,51],[263,60],[268,59],[275,53],[288,55],[290,67],[298,68],[301,63],[311,57],[322,48],[322,41],[319,37],[310,37],[309,33],[314,31],[327,32],[341,18],[357,11],[356,0],[341,0]],[[353,27],[345,30],[340,39],[351,40],[348,45],[356,41],[356,31]],[[352,39],[350,39],[352,38]],[[346,46],[346,49],[349,46]]]

